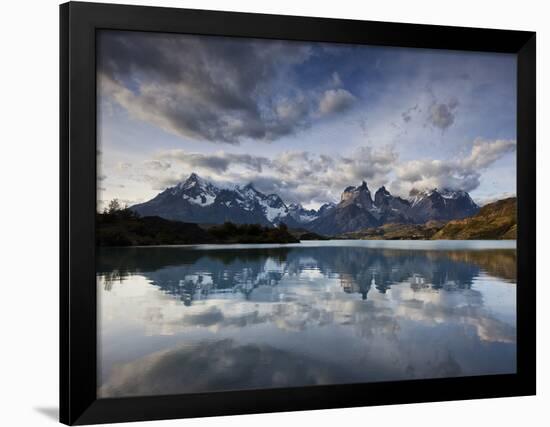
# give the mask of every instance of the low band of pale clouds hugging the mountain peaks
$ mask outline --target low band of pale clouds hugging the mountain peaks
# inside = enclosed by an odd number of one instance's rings
[[[149,183],[155,190],[185,180],[192,172],[220,185],[253,182],[265,193],[285,201],[317,206],[338,201],[343,189],[367,181],[372,192],[382,185],[406,197],[410,190],[432,188],[471,192],[482,173],[515,150],[513,140],[476,139],[469,153],[451,160],[400,161],[392,145],[361,146],[349,153],[327,156],[310,151],[287,150],[273,157],[217,151],[165,150],[140,167],[123,170],[126,177]]]

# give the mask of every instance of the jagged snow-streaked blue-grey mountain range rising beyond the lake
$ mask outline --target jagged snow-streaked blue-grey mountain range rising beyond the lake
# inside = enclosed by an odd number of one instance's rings
[[[389,223],[462,219],[476,214],[479,206],[465,191],[448,189],[413,191],[409,199],[404,199],[380,187],[372,197],[363,181],[347,187],[337,204],[306,209],[300,204],[285,203],[277,194],[264,194],[251,183],[222,188],[192,173],[187,180],[130,209],[141,216],[201,224],[229,221],[275,226],[284,222],[290,228],[336,235]]]

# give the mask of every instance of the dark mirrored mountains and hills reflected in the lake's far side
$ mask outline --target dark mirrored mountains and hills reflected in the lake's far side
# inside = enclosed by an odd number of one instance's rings
[[[412,289],[469,289],[480,272],[515,282],[516,251],[379,250],[357,247],[191,250],[189,248],[106,248],[98,273],[106,290],[125,277],[142,274],[186,305],[211,294],[238,292],[250,298],[259,286],[276,286],[283,276],[319,272],[338,277],[344,292],[363,299],[371,288],[392,284]]]

